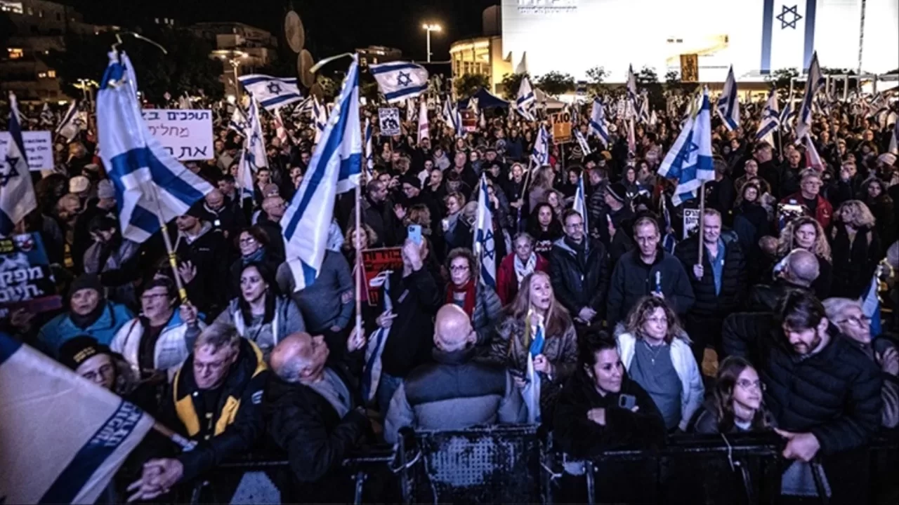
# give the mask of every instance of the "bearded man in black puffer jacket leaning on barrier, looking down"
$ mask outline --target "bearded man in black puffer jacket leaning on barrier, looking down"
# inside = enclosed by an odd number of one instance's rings
[[[873,360],[804,291],[788,292],[775,317],[727,316],[722,338],[725,354],[749,359],[768,386],[765,404],[787,443],[783,456],[795,462],[783,474],[782,494],[819,496],[817,481],[831,503],[867,503],[865,446],[882,409],[882,372]]]

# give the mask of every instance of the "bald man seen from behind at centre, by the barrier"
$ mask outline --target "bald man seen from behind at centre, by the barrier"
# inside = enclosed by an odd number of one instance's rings
[[[397,432],[461,430],[477,424],[524,422],[527,410],[512,376],[474,360],[477,334],[464,310],[445,305],[434,323],[432,363],[415,368],[396,389],[384,420],[384,439]]]

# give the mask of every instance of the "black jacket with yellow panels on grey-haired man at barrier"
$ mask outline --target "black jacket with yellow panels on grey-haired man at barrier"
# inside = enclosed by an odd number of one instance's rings
[[[263,389],[269,371],[263,354],[253,342],[241,339],[237,359],[227,372],[216,406],[212,430],[200,420],[194,392],[193,354],[174,374],[172,385],[163,398],[162,419],[189,439],[200,444],[177,459],[184,465],[181,482],[208,472],[228,458],[243,456],[262,439]]]

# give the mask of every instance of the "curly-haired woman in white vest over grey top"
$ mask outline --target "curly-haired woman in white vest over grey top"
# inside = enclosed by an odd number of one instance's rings
[[[690,338],[660,297],[642,297],[615,329],[628,375],[653,397],[665,429],[686,431],[702,405],[705,388]]]

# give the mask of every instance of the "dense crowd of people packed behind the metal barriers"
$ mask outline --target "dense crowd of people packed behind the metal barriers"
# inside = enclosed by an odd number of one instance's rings
[[[823,480],[832,502],[864,502],[859,451],[899,424],[895,317],[874,332],[859,301],[881,265],[899,266],[894,127],[834,103],[814,117],[819,171],[788,130],[777,146],[755,140],[755,105],[734,131],[714,120],[702,233],[683,240],[683,211],[699,201],[675,207],[676,182],[656,175],[681,129],[666,111],[636,125],[629,149],[626,120],[610,120],[603,144],[587,106],[574,106],[589,152],[555,145],[544,166],[530,162],[542,120],[501,109],[465,137],[439,111],[421,142],[376,128],[361,197],[338,199],[318,277],[297,292],[280,219],[312,160],[307,118],[288,119],[282,142],[263,116],[267,168],[242,200],[243,139],[218,112],[215,157],[186,163],[216,189],[165,230],[175,270],[163,232],[144,244],[121,236],[87,130],[58,145],[24,223],[64,306],[13,311],[4,331],[198,444],[179,452],[151,435],[111,501],[131,483],[153,500],[263,453],[289,459],[291,501],[326,501],[342,489],[344,456],[404,427],[529,421],[532,366],[539,421],[569,456],[773,430],[793,461],[786,495],[814,496]],[[482,174],[495,237],[483,259]],[[572,208],[582,179],[587,215]],[[785,218],[788,206],[801,215]],[[375,248],[399,248],[402,268],[381,276],[377,303],[363,300],[357,330],[353,270]],[[479,282],[481,261],[494,261],[495,287]],[[884,306],[895,308],[895,290]]]

